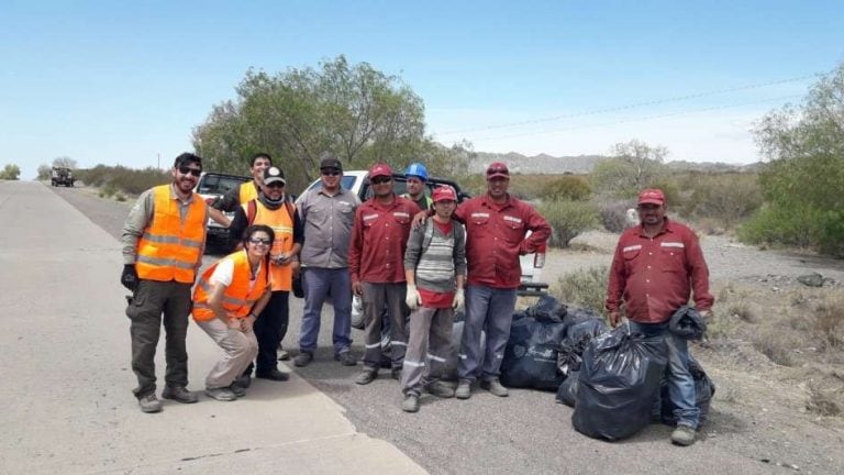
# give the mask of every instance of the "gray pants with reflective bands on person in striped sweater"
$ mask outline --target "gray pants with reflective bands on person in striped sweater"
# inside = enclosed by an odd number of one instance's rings
[[[410,314],[410,338],[404,366],[401,369],[401,391],[419,396],[422,387],[445,376],[445,363],[452,350],[454,310],[420,307]]]

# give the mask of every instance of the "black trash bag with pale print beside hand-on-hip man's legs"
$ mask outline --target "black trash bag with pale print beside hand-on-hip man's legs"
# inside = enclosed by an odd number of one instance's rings
[[[557,371],[557,355],[566,327],[553,314],[541,314],[514,320],[510,327],[501,362],[504,386],[557,390],[563,383],[565,376]]]

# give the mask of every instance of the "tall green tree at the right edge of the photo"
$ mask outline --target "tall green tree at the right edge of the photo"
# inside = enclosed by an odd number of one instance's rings
[[[756,141],[765,205],[741,233],[751,242],[844,255],[844,64],[821,76],[802,103],[771,111]]]

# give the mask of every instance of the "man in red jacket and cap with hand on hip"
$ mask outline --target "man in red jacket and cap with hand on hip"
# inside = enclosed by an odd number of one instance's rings
[[[510,338],[515,291],[521,284],[519,256],[535,252],[551,235],[551,227],[530,205],[507,192],[510,170],[500,162],[487,168],[487,192],[464,201],[455,216],[466,224],[466,322],[463,327],[459,383],[455,395],[471,396],[478,377],[482,388],[507,396],[498,380]],[[531,235],[525,238],[528,231]],[[487,331],[486,354],[480,353],[481,330]]]

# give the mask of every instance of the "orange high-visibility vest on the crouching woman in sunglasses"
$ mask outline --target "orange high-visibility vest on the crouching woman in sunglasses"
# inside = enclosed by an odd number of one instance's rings
[[[267,285],[269,284],[267,281],[269,278],[267,266],[260,266],[258,275],[255,276],[255,285],[249,290],[252,268],[246,251],[237,251],[225,258],[234,261],[234,273],[232,274],[232,283],[223,292],[223,308],[230,316],[242,319],[249,314],[252,307],[255,306],[255,302],[267,290]],[[214,311],[208,303],[211,289],[213,288],[209,279],[214,274],[214,269],[220,262],[222,259],[202,273],[202,277],[199,278],[199,283],[197,283],[197,287],[193,289],[193,320],[196,321],[209,321],[214,318]],[[263,264],[266,264],[266,261]]]

